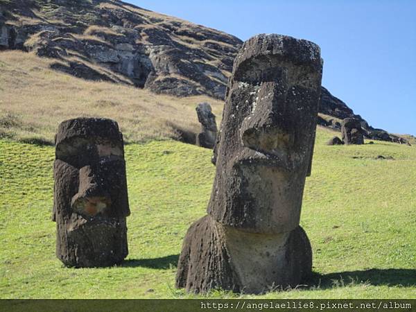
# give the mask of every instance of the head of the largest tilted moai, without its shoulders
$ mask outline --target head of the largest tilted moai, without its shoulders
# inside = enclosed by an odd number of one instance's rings
[[[247,232],[299,225],[318,115],[320,48],[257,35],[236,56],[216,150],[208,213]]]

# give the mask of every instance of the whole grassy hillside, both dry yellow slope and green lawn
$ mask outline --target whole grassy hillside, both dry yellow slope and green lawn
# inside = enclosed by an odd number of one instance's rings
[[[50,64],[0,53],[0,298],[191,297],[175,289],[175,266],[189,225],[205,214],[214,166],[210,150],[171,139],[198,131],[196,103],[211,103],[218,121],[223,103],[87,82]],[[47,144],[58,123],[75,116],[116,119],[130,143],[130,254],[118,267],[69,269],[55,257]],[[315,275],[307,286],[261,297],[415,298],[416,148],[326,146],[335,134],[318,128],[304,193],[301,225]]]

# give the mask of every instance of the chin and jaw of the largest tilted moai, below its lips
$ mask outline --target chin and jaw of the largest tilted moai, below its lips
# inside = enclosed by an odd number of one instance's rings
[[[225,184],[234,187],[213,194],[212,205],[225,207],[212,209],[212,215],[244,232],[289,232],[299,225],[305,171],[288,171],[263,159],[236,161],[225,177]]]

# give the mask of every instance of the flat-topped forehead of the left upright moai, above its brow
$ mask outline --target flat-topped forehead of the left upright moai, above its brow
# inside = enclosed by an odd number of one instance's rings
[[[62,121],[55,136],[55,146],[73,137],[102,137],[123,145],[123,135],[119,131],[119,125],[112,119],[80,117]]]

